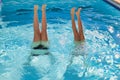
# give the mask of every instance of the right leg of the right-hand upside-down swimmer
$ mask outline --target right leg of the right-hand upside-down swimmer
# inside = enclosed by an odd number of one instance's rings
[[[85,38],[83,33],[82,21],[80,19],[80,10],[81,8],[79,8],[78,11],[76,12],[76,16],[78,19],[79,38],[80,38],[80,41],[82,41],[82,40],[85,40]]]

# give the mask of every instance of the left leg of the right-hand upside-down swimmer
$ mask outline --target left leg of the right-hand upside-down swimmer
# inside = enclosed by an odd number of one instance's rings
[[[75,8],[72,8],[71,9],[72,30],[73,30],[73,33],[74,33],[74,40],[79,41],[79,34],[78,34],[77,29],[76,29],[76,24],[75,24],[75,20],[74,20],[74,12],[75,12]]]

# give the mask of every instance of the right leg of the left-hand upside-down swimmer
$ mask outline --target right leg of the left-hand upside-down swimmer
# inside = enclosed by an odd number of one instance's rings
[[[46,31],[47,23],[46,23],[46,10],[45,9],[46,9],[46,5],[42,5],[42,32],[41,32],[42,41],[48,41],[47,31]]]

